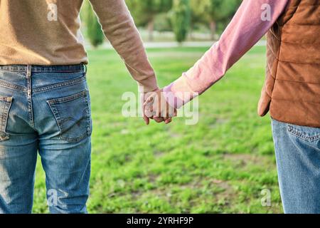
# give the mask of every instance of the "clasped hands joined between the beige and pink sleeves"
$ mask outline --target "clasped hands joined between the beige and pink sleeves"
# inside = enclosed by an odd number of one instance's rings
[[[144,102],[144,117],[148,118],[148,121],[150,118],[154,119],[157,123],[171,123],[172,117],[176,116],[176,108],[171,107],[166,102],[163,90],[147,93],[146,97]]]

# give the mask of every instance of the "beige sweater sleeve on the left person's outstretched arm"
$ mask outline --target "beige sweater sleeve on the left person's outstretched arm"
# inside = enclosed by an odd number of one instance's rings
[[[156,76],[146,56],[142,38],[124,0],[90,0],[102,30],[140,89],[158,88]]]

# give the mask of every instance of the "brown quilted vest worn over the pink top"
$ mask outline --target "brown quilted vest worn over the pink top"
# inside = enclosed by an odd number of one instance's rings
[[[320,0],[291,0],[267,33],[258,113],[320,128]]]

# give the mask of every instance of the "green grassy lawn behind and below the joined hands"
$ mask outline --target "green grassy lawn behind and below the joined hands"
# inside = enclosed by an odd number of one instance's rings
[[[206,48],[150,49],[159,85],[181,76]],[[282,212],[270,118],[257,116],[265,48],[255,47],[199,98],[196,125],[144,125],[124,118],[122,93],[136,91],[114,51],[90,51],[92,99],[90,213]],[[41,162],[33,212],[48,212]],[[262,207],[261,191],[271,191]]]

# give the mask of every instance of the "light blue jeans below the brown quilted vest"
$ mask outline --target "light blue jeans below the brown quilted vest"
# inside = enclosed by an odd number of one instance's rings
[[[320,128],[272,120],[284,212],[320,213]]]

